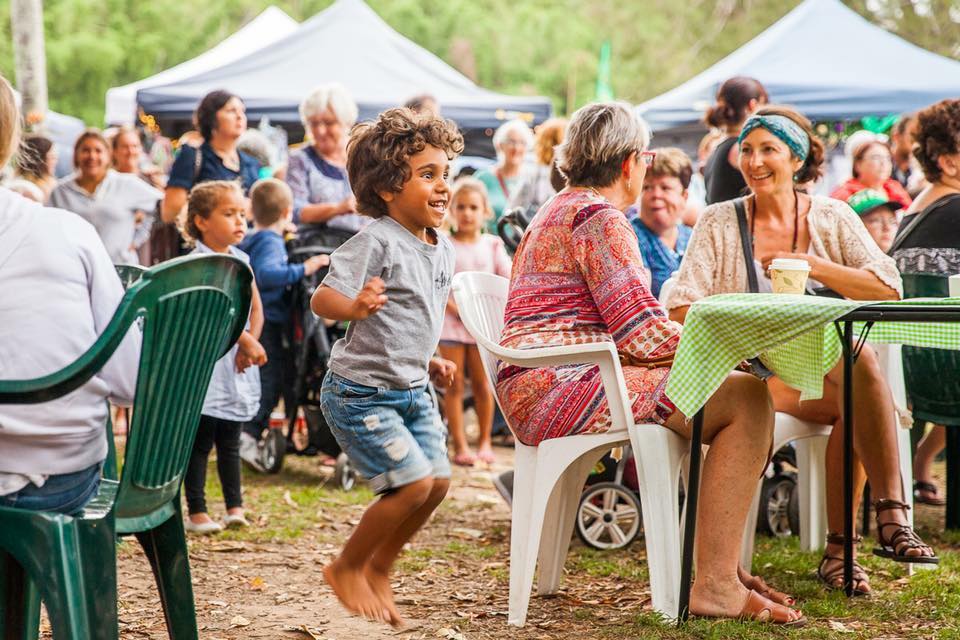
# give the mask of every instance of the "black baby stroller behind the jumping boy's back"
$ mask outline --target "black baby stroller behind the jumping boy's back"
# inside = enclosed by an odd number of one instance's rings
[[[311,256],[333,253],[352,235],[325,225],[303,225],[299,234],[287,241],[287,255],[291,263],[302,263]],[[350,490],[356,474],[320,410],[320,387],[327,373],[331,347],[346,333],[344,323],[329,324],[310,310],[310,298],[326,274],[326,268],[320,269],[303,278],[289,292],[293,358],[286,372],[290,384],[283,393],[286,422],[271,421],[259,449],[259,462],[266,472],[279,473],[287,453],[307,456],[322,453],[336,459],[334,480],[342,489]]]

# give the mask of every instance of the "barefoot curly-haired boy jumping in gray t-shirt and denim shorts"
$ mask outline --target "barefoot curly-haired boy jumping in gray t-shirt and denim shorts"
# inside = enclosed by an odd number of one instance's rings
[[[323,574],[343,605],[402,624],[390,570],[450,484],[447,434],[426,393],[452,381],[453,363],[431,358],[454,270],[437,232],[463,151],[450,122],[391,109],[354,127],[347,172],[361,213],[374,222],[337,249],[313,295],[314,313],[349,320],[321,389],[337,442],[380,499],[364,513]]]

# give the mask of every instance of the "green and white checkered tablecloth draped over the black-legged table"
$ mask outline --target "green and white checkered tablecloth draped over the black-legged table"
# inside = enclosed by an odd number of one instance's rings
[[[960,305],[960,298],[884,303],[817,296],[731,293],[694,303],[683,328],[666,395],[693,416],[740,362],[759,356],[804,400],[823,395],[823,377],[839,361],[833,321],[866,304]],[[859,323],[858,323],[859,324]],[[860,327],[854,325],[859,334]],[[960,323],[878,322],[871,342],[960,350]]]

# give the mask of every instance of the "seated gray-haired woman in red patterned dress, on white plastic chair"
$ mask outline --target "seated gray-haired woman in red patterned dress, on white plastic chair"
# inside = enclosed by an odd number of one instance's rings
[[[525,349],[616,345],[639,428],[656,422],[684,438],[690,425],[664,395],[681,326],[647,287],[637,238],[621,213],[640,194],[650,133],[622,102],[587,105],[557,149],[568,186],[540,209],[514,257],[501,345]],[[497,394],[524,444],[610,429],[598,367],[521,369],[501,363]],[[798,625],[793,599],[739,570],[740,541],[772,444],[766,387],[732,373],[708,401],[711,444],[701,488],[697,575],[690,612]],[[663,523],[669,526],[669,523]],[[788,606],[784,606],[788,605]]]

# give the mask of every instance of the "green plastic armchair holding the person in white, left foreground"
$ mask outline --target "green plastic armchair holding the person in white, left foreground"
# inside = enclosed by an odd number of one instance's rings
[[[116,640],[115,540],[130,533],[153,568],[170,637],[198,637],[180,483],[214,364],[246,323],[252,279],[230,256],[158,265],[127,289],[106,330],[75,362],[43,378],[0,381],[0,403],[66,395],[99,371],[143,318],[120,480],[101,480],[75,518],[0,507],[0,638],[37,638],[42,597],[56,640]]]

